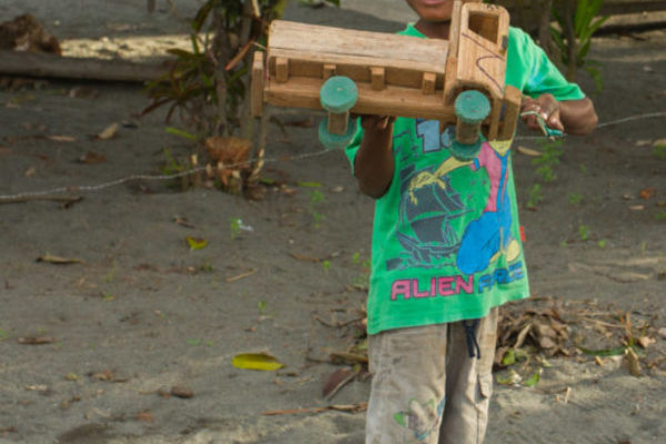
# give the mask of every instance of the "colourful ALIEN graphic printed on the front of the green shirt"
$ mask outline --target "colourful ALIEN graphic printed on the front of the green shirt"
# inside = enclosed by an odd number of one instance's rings
[[[386,261],[386,268],[455,266],[460,275],[422,283],[415,280],[407,280],[408,284],[404,280],[395,281],[392,299],[396,294],[410,294],[413,297],[460,294],[465,290],[465,285],[461,284],[466,282],[464,276],[483,272],[502,255],[508,264],[519,256],[519,244],[512,234],[514,221],[508,198],[509,141],[485,141],[473,161],[447,157],[438,165],[415,167],[418,158],[450,147],[453,131],[453,128],[448,128],[441,134],[437,121],[417,120],[414,132],[416,140],[407,144],[412,147],[412,152],[398,153],[401,157],[410,155],[414,161],[407,162],[408,167],[400,171],[401,203],[396,236],[402,251],[397,258]],[[411,134],[402,133],[400,137]],[[463,169],[478,172],[472,179],[476,182],[471,183],[468,174],[460,174],[458,171]],[[480,212],[478,209],[483,210]],[[455,223],[463,216],[470,221],[466,225]],[[512,264],[514,268],[516,265]],[[488,276],[484,281],[485,287],[522,276],[522,272],[506,269],[503,275]],[[481,287],[477,290],[482,291]]]

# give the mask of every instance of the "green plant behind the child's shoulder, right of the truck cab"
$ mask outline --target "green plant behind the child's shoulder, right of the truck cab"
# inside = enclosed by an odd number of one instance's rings
[[[558,0],[554,2],[553,16],[557,27],[551,27],[551,36],[559,49],[566,65],[566,78],[574,81],[577,68],[583,68],[593,78],[597,91],[604,87],[599,63],[589,60],[587,53],[592,37],[608,17],[598,17],[604,0]]]

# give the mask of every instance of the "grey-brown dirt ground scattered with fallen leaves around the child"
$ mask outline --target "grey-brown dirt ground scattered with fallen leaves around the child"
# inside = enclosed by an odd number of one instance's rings
[[[182,44],[196,2],[171,4],[149,14],[143,1],[4,0],[0,21],[30,11],[65,54],[148,59]],[[286,18],[393,32],[411,17],[400,1],[356,0],[293,1]],[[573,332],[588,349],[619,346],[617,315],[629,313],[647,337],[642,375],[622,356],[588,355],[547,359],[532,387],[498,372],[488,444],[664,442],[666,152],[655,142],[666,120],[645,117],[666,111],[664,48],[664,31],[596,40],[601,128],[565,139],[551,182],[525,154],[548,150],[533,134],[522,132],[514,158],[535,299],[512,310],[546,303],[587,316]],[[581,83],[594,91],[585,74]],[[0,203],[0,443],[362,443],[363,412],[262,415],[360,405],[369,393],[356,379],[322,396],[340,367],[329,353],[353,341],[349,322],[362,316],[373,203],[342,153],[290,124],[319,115],[274,110],[286,134],[271,128],[264,176],[283,186],[254,202],[169,181],[111,185],[160,174],[165,149],[193,148],[160,113],[135,117],[140,85],[37,87],[0,91],[0,199],[53,190],[82,200]],[[78,87],[94,94],[71,97]],[[626,118],[636,119],[605,124]],[[93,138],[114,122],[114,138]],[[80,185],[103,186],[59,190]],[[186,236],[208,245],[191,250]],[[232,365],[253,352],[285,367]]]

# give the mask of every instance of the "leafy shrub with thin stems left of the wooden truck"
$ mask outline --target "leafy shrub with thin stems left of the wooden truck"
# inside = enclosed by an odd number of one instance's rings
[[[340,0],[325,1],[340,6]],[[167,122],[178,114],[188,128],[170,128],[170,133],[199,142],[210,137],[255,141],[250,154],[253,172],[243,178],[243,189],[258,180],[266,143],[268,119],[262,119],[255,138],[250,67],[254,51],[265,48],[270,22],[283,14],[286,3],[287,0],[203,1],[190,22],[191,49],[170,49],[173,59],[169,71],[147,87],[151,102],[142,114],[165,107]]]

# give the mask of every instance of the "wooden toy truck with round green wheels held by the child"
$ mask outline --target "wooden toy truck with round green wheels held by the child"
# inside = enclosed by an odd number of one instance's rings
[[[325,109],[326,147],[354,133],[349,113],[438,120],[456,124],[458,157],[471,158],[480,131],[513,137],[521,92],[504,84],[508,13],[502,7],[454,1],[448,41],[275,20],[265,53],[252,69],[252,110]],[[350,128],[352,127],[352,128]]]

